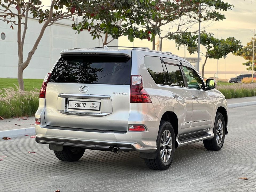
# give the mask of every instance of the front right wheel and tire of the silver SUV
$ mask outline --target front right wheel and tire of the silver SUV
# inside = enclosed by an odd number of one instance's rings
[[[222,126],[220,125],[220,122]],[[203,141],[205,149],[212,150],[212,151],[220,150],[224,144],[225,130],[226,130],[226,125],[225,125],[224,117],[221,113],[217,112],[215,122],[214,122],[214,128],[213,128],[214,137],[211,140]]]

